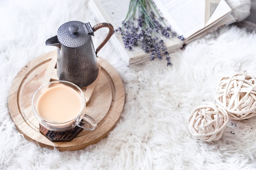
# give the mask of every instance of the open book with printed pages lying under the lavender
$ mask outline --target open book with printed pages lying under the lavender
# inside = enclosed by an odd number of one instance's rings
[[[109,22],[117,29],[128,12],[130,0],[89,0],[88,7],[99,22]],[[216,31],[221,26],[235,22],[231,8],[225,0],[154,0],[163,17],[177,35],[183,35],[182,42],[177,37],[164,39],[169,53],[181,49],[207,33]],[[120,33],[115,33],[110,42],[124,60],[137,64],[150,60],[150,53],[145,53],[139,46],[132,51],[125,49]]]

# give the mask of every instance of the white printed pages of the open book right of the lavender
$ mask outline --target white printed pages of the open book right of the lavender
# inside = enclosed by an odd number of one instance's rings
[[[155,0],[154,2],[173,29],[185,39],[231,12],[225,0],[220,0],[205,24],[206,0]]]

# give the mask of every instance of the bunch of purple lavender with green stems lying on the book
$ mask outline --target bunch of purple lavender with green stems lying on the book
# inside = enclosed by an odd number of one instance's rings
[[[172,31],[171,26],[166,26],[152,0],[130,0],[122,27],[115,32],[121,32],[126,49],[132,51],[139,44],[143,51],[150,53],[150,60],[162,60],[166,57],[167,66],[172,65],[167,47],[161,38],[173,38],[177,34]],[[184,40],[182,36],[179,39]]]

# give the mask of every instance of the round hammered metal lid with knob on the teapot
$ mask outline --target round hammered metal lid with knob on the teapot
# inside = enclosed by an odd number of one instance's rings
[[[67,47],[76,48],[83,46],[93,35],[90,23],[70,21],[61,25],[57,32],[58,41]]]

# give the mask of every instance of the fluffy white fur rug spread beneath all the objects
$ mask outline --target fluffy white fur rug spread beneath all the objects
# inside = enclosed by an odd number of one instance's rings
[[[18,132],[8,108],[16,74],[35,57],[56,50],[45,40],[70,20],[97,24],[85,1],[0,1],[0,169],[200,170],[256,169],[256,117],[230,120],[222,138],[190,135],[188,118],[202,102],[215,103],[222,76],[256,75],[256,35],[227,26],[171,54],[173,66],[155,60],[126,67],[111,43],[99,52],[119,72],[126,103],[108,137],[83,150],[41,148]],[[105,31],[95,33],[99,44]],[[95,45],[96,46],[96,45]]]

